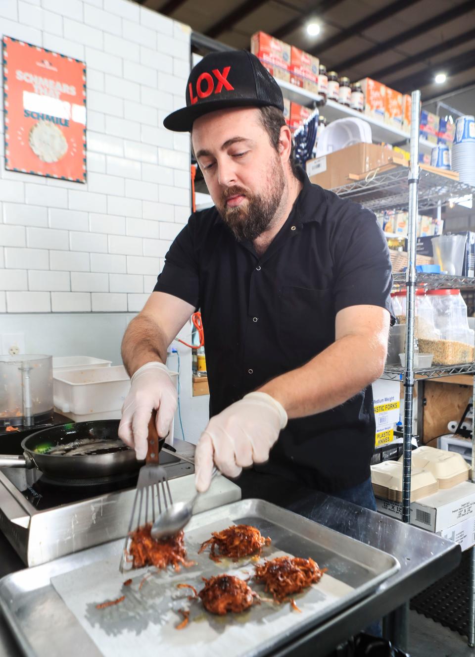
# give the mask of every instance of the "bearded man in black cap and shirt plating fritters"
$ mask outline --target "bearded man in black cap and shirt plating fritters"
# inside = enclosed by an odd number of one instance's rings
[[[238,479],[254,497],[316,489],[374,509],[369,384],[384,368],[392,288],[382,231],[292,164],[281,90],[254,55],[207,55],[186,95],[164,125],[191,132],[215,208],[191,215],[125,332],[119,435],[143,459],[154,408],[166,435],[177,405],[167,348],[199,307],[211,419],[197,489],[213,462],[231,478],[254,466]]]

